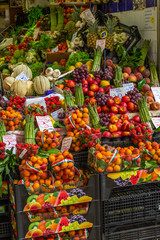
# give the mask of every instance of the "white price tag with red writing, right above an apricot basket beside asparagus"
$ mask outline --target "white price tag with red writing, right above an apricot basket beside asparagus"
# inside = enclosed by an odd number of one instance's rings
[[[36,116],[36,120],[38,123],[38,127],[41,132],[43,132],[45,129],[46,130],[53,130],[53,124],[51,122],[51,119],[49,116]]]

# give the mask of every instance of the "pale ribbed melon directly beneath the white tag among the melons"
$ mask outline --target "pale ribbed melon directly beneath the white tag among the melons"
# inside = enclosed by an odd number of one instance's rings
[[[27,93],[27,82],[21,80],[15,81],[11,86],[11,91],[14,91],[19,97],[24,97]]]

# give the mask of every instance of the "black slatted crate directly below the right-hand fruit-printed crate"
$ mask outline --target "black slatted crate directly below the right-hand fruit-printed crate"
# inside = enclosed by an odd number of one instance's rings
[[[103,232],[160,217],[160,183],[117,188],[108,200],[102,201]]]

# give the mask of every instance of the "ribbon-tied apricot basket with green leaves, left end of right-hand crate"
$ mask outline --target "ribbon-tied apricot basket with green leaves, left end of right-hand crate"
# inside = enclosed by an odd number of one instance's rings
[[[96,144],[90,148],[89,162],[98,172],[119,172],[122,160],[117,149]]]

